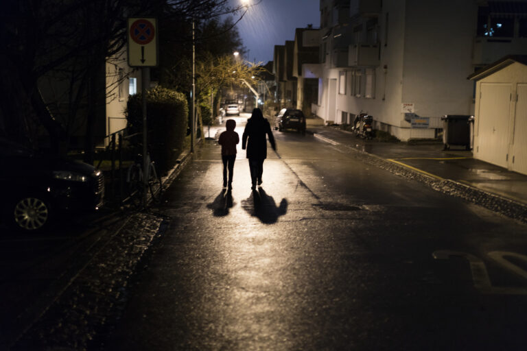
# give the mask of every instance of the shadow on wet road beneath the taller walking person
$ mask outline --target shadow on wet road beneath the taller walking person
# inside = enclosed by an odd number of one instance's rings
[[[242,200],[242,208],[251,216],[258,217],[262,223],[272,224],[288,211],[288,200],[282,199],[280,206],[277,206],[272,196],[259,188],[258,191],[253,191],[247,199]]]

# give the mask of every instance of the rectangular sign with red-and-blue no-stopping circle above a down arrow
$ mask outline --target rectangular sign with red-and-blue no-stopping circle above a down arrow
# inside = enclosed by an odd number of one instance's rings
[[[128,19],[128,65],[157,66],[156,19]]]

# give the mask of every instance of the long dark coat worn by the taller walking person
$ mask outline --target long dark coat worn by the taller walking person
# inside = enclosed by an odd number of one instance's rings
[[[276,145],[274,144],[274,136],[272,136],[269,122],[267,119],[264,119],[261,112],[256,114],[253,112],[253,117],[247,120],[242,136],[242,149],[247,147],[247,158],[257,160],[267,158],[266,134],[269,137],[272,149],[275,150]]]

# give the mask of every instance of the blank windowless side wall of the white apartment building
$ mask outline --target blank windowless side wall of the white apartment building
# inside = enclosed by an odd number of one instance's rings
[[[419,116],[469,114],[477,13],[472,0],[407,0],[402,102]]]

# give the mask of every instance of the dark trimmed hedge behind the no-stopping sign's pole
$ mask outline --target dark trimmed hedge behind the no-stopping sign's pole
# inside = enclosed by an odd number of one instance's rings
[[[151,157],[163,174],[176,164],[183,152],[189,114],[187,98],[175,90],[157,86],[148,90],[146,108]],[[141,93],[128,99],[126,119],[130,134],[142,132]],[[139,137],[136,141],[141,143],[141,140]]]

